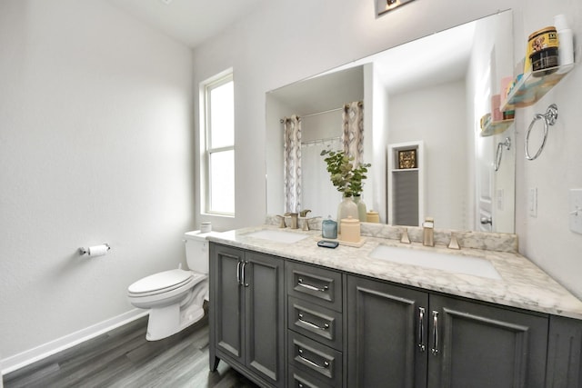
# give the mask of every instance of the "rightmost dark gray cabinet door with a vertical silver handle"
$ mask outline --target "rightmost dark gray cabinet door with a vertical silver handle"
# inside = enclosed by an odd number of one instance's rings
[[[431,294],[428,387],[543,387],[547,326],[547,316]]]

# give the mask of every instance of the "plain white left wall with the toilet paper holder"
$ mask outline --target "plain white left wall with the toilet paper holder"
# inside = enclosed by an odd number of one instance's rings
[[[129,284],[184,261],[192,52],[100,0],[2,0],[0,47],[10,357],[127,313]],[[101,243],[110,254],[77,254]]]

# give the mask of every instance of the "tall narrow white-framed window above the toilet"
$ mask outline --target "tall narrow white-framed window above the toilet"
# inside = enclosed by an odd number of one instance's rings
[[[235,214],[235,88],[232,72],[204,85],[207,214]]]

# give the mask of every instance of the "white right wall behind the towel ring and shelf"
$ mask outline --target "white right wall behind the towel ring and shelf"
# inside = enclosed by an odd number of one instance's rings
[[[567,78],[534,106],[517,111],[517,146],[523,147],[524,136],[533,115],[545,113],[547,105],[557,104],[559,117],[550,127],[546,149],[530,162],[517,157],[516,230],[520,252],[542,266],[561,284],[582,298],[582,234],[568,227],[569,189],[582,188],[582,110],[580,90],[582,71],[582,2],[562,0],[536,1],[524,6],[521,29],[516,33],[516,61],[525,54],[527,35],[544,25],[552,16],[565,14],[577,42],[578,65]],[[539,131],[541,128],[537,128]],[[527,212],[527,189],[537,187],[537,218]]]

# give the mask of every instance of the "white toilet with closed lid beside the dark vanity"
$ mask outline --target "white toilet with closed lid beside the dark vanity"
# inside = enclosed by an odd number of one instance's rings
[[[127,298],[135,307],[150,309],[146,340],[156,341],[186,329],[204,316],[208,300],[208,242],[199,231],[185,234],[186,263],[146,276],[127,287]]]

